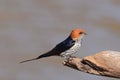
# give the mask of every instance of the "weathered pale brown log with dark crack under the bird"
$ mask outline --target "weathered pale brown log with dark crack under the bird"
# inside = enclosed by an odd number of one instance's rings
[[[84,58],[70,58],[64,65],[96,75],[120,78],[120,52],[102,51]]]

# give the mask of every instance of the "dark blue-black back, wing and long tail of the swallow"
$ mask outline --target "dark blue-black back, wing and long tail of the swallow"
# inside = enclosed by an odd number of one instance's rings
[[[69,36],[63,42],[56,45],[51,51],[49,51],[45,54],[42,54],[42,55],[38,56],[37,58],[33,58],[33,59],[30,59],[30,60],[25,60],[25,61],[22,61],[20,63],[28,62],[28,61],[32,61],[32,60],[37,60],[37,59],[40,59],[40,58],[43,58],[43,57],[59,56],[62,52],[70,49],[74,44],[75,44],[75,41]]]

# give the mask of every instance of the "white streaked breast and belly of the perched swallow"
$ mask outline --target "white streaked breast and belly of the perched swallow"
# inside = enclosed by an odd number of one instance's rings
[[[79,51],[81,47],[80,43],[75,43],[73,47],[71,47],[69,50],[66,50],[65,52],[62,52],[61,55],[71,55]]]

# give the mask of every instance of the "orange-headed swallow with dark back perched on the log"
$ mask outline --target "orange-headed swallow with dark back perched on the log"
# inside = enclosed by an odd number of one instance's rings
[[[40,58],[50,57],[50,56],[61,56],[64,58],[70,58],[72,54],[79,51],[84,35],[86,35],[84,30],[73,29],[71,34],[64,41],[57,44],[52,50],[36,58],[25,60],[20,63],[24,63],[32,60],[38,60]]]

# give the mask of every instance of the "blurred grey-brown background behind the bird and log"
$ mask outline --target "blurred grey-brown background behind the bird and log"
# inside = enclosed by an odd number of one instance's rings
[[[117,80],[63,66],[60,57],[19,64],[74,28],[88,34],[76,56],[120,51],[120,0],[0,0],[0,80]]]

